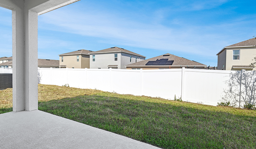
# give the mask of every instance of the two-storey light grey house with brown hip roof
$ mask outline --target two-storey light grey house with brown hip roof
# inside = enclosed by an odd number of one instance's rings
[[[145,60],[146,57],[119,47],[90,53],[90,68],[126,69],[125,65]]]

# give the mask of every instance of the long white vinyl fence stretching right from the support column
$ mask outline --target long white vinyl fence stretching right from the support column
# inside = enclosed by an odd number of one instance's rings
[[[182,97],[183,101],[207,105],[230,101],[232,105],[238,107],[241,104],[243,107],[245,101],[256,103],[255,71],[185,68],[161,70],[40,68],[39,72],[40,83],[49,85],[69,84],[70,87],[171,100],[176,95]]]

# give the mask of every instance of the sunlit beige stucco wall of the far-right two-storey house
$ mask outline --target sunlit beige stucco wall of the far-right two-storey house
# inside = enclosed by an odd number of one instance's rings
[[[240,50],[239,60],[233,60],[233,50]],[[227,48],[226,49],[226,70],[241,70],[241,69],[232,69],[232,66],[233,65],[249,66],[252,62],[254,62],[252,61],[254,57],[256,57],[256,49],[254,47]]]

